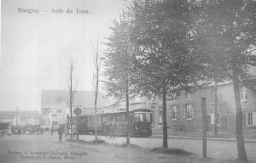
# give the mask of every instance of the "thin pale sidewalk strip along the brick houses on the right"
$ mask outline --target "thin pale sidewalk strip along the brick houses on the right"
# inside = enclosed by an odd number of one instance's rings
[[[153,135],[151,138],[163,138],[162,135]],[[202,138],[199,137],[179,137],[179,136],[168,136],[168,138],[179,138],[179,139],[196,139],[201,140]],[[228,142],[236,142],[236,138],[211,138],[207,137],[207,140],[214,140],[214,141],[228,141]],[[246,143],[256,143],[256,139],[245,139]]]

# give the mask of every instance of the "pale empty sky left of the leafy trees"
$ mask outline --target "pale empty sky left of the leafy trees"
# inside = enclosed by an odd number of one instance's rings
[[[2,0],[0,111],[40,110],[42,89],[67,90],[69,59],[79,90],[92,91],[92,47],[123,8],[123,0]]]

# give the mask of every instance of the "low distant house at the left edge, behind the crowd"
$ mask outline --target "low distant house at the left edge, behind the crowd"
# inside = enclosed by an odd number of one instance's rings
[[[9,122],[11,126],[39,125],[38,111],[0,111],[0,121]]]

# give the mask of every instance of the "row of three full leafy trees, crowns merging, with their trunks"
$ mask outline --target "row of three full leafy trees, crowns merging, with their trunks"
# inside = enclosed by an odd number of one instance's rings
[[[163,147],[168,148],[169,95],[202,82],[229,80],[236,98],[238,156],[247,160],[240,87],[253,85],[249,70],[255,60],[248,56],[256,44],[255,13],[253,0],[132,1],[119,20],[113,21],[113,32],[106,42],[103,60],[108,94],[126,101],[127,114],[129,98],[160,97]]]

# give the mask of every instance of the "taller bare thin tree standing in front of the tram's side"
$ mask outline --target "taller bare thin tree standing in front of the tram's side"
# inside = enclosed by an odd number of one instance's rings
[[[96,48],[93,46],[93,59],[94,65],[96,69],[96,73],[93,74],[93,92],[95,93],[95,101],[94,101],[94,110],[95,110],[95,140],[97,140],[97,128],[96,128],[96,114],[97,114],[97,98],[98,98],[98,90],[99,90],[99,72],[101,69],[101,62],[99,61],[99,42],[96,44]]]

